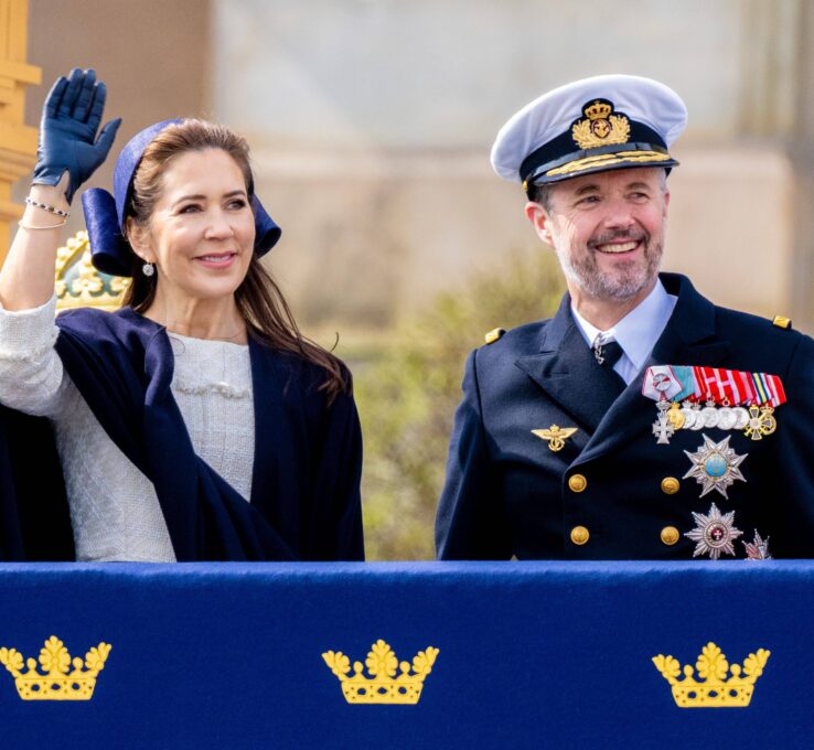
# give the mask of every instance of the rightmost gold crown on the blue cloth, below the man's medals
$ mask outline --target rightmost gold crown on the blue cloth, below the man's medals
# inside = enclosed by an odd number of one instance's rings
[[[682,672],[677,660],[672,656],[653,656],[653,664],[662,673],[673,689],[673,698],[681,708],[741,708],[749,705],[754,692],[754,683],[763,674],[763,667],[771,652],[758,649],[739,664],[731,666],[715,643],[707,643],[701,650],[695,668],[700,681],[693,677],[689,664],[684,667],[684,679],[677,679]],[[731,673],[725,679],[727,672]]]

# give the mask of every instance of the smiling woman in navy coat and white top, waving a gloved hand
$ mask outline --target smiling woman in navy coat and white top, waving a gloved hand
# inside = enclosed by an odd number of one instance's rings
[[[76,558],[362,559],[350,374],[300,336],[259,262],[280,231],[243,138],[199,120],[136,136],[114,196],[83,195],[94,264],[133,277],[125,307],[54,325],[60,227],[119,125],[97,139],[105,96],[93,71],[54,85],[0,271],[0,401],[53,425]]]

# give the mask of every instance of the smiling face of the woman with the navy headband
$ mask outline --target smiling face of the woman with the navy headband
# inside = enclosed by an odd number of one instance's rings
[[[131,244],[156,264],[161,297],[183,302],[233,296],[255,244],[255,217],[237,162],[216,148],[174,157],[149,223]]]

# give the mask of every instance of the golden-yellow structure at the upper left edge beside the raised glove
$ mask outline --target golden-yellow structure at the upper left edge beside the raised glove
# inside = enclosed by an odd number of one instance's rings
[[[25,87],[39,84],[42,72],[25,62],[28,10],[28,0],[0,0],[0,261],[10,225],[22,215],[11,186],[36,158],[36,128],[24,125]]]

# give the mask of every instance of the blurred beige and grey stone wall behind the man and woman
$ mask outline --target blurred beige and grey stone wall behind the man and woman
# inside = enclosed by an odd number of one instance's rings
[[[491,171],[495,132],[569,79],[656,77],[690,116],[665,266],[813,331],[813,26],[806,0],[30,0],[29,57],[44,82],[97,67],[119,144],[175,115],[244,132],[283,226],[275,270],[329,329],[386,328],[547,251]]]

